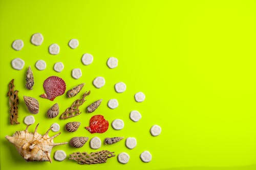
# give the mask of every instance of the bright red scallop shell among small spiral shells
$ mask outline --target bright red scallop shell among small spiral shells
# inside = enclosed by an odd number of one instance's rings
[[[109,129],[109,122],[102,115],[94,115],[90,119],[90,127],[85,128],[91,133],[104,133]]]

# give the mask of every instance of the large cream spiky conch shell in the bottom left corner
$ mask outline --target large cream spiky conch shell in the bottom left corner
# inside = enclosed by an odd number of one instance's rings
[[[12,136],[6,136],[5,138],[15,145],[18,153],[25,160],[50,161],[52,163],[50,155],[52,148],[57,145],[67,144],[68,142],[54,143],[53,138],[57,137],[60,132],[50,137],[48,136],[50,128],[45,135],[40,135],[37,133],[38,125],[36,125],[34,133],[28,132],[28,127],[30,126],[28,125],[26,130],[16,131]]]

